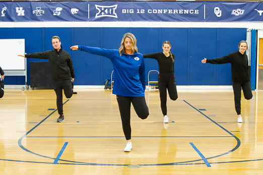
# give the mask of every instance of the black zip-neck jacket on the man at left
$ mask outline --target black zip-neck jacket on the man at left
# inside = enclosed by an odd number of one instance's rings
[[[53,49],[45,52],[25,54],[25,57],[48,59],[50,63],[52,79],[59,80],[75,78],[71,55],[67,51],[64,51],[62,46],[59,50],[59,53],[56,49]]]

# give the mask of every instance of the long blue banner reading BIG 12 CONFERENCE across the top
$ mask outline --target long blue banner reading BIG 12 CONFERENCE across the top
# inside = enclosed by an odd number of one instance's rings
[[[263,3],[5,2],[2,22],[164,21],[262,22]]]

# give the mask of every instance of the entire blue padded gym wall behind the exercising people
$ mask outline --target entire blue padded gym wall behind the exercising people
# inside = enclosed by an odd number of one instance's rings
[[[123,34],[133,33],[138,51],[142,54],[161,52],[165,40],[171,42],[175,55],[175,79],[177,85],[231,85],[230,64],[202,64],[205,58],[222,57],[238,50],[238,43],[246,39],[246,29],[240,28],[0,28],[0,39],[25,38],[26,53],[53,49],[51,38],[57,35],[74,63],[76,85],[102,85],[110,77],[113,66],[108,58],[87,52],[72,51],[72,45],[86,45],[106,49],[118,49]],[[23,53],[21,53],[23,54]],[[28,77],[30,61],[27,59]],[[154,59],[145,59],[148,71],[158,70]],[[1,66],[1,65],[0,65]],[[24,84],[24,77],[6,76],[6,84]],[[28,84],[30,84],[28,79]]]

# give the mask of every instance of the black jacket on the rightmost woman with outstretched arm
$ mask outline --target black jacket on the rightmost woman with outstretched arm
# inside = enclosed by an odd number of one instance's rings
[[[227,56],[216,59],[207,59],[207,63],[211,64],[225,64],[231,63],[232,81],[245,82],[250,81],[248,72],[247,55],[239,51],[230,53]]]

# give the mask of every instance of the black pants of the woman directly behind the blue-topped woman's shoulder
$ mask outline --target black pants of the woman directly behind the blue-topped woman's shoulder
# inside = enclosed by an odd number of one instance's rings
[[[171,100],[178,98],[174,73],[160,73],[158,76],[158,86],[161,100],[161,109],[163,115],[167,115],[167,90]]]

